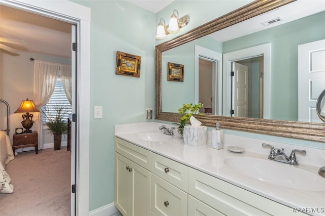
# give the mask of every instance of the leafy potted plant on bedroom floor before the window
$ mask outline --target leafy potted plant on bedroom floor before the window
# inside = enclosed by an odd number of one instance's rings
[[[55,115],[48,110],[43,113],[47,119],[45,125],[48,127],[49,133],[54,137],[54,150],[60,150],[62,134],[68,133],[68,122],[65,120],[67,110],[64,106],[54,106]]]

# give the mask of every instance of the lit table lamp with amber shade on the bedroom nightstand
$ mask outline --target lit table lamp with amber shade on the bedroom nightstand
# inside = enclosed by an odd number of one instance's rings
[[[31,133],[30,127],[34,124],[32,120],[33,114],[29,114],[29,112],[39,112],[36,108],[35,104],[32,101],[29,101],[28,98],[25,101],[21,101],[20,106],[15,111],[15,113],[25,112],[26,114],[22,115],[23,121],[21,122],[22,126],[26,129],[24,134]]]

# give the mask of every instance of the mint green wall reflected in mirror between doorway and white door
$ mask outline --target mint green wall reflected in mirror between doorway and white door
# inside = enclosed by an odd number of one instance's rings
[[[324,20],[322,12],[223,42],[223,53],[271,42],[271,119],[298,120],[298,45],[324,39]]]

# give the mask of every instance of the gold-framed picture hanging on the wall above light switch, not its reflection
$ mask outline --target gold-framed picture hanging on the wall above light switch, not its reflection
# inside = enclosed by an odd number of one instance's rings
[[[116,72],[118,75],[140,77],[141,56],[116,51]]]

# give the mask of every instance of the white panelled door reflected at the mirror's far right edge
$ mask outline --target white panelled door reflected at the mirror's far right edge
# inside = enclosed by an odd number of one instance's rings
[[[325,89],[325,40],[298,46],[298,120],[322,122],[316,101]]]

